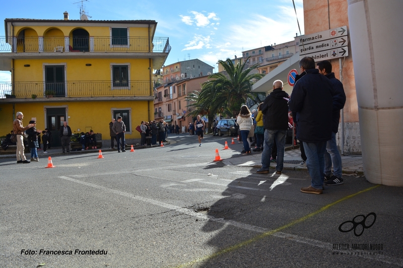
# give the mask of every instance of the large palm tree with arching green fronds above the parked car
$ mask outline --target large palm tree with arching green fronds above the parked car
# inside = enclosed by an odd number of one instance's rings
[[[249,58],[248,58],[249,59]],[[255,103],[260,103],[261,100],[256,98],[258,94],[251,93],[251,87],[253,81],[259,80],[264,75],[260,73],[250,73],[256,69],[258,65],[253,65],[249,68],[245,68],[247,60],[241,64],[238,61],[236,65],[230,60],[219,60],[219,63],[224,67],[227,74],[213,73],[209,78],[214,80],[208,81],[206,86],[214,92],[214,99],[217,103],[216,107],[225,107],[225,113],[229,116],[237,116],[239,109],[243,103],[249,98]],[[203,92],[202,86],[202,92]]]

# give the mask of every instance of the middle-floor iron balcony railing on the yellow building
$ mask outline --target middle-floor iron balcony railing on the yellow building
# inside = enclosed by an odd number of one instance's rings
[[[127,86],[113,86],[112,81],[0,82],[0,98],[52,97],[139,97],[151,96],[150,81],[130,81]]]

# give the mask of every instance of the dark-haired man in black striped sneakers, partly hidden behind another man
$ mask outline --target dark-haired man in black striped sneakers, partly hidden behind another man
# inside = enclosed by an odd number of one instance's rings
[[[331,120],[331,140],[326,143],[326,151],[324,153],[324,182],[325,185],[343,184],[342,177],[342,156],[336,143],[336,133],[339,130],[340,110],[343,109],[346,103],[346,94],[344,93],[343,83],[334,76],[331,72],[331,63],[328,60],[323,60],[316,64],[316,68],[320,74],[329,78],[335,95],[333,96],[333,114]],[[343,126],[342,126],[343,127]],[[333,163],[333,175],[331,174],[331,164]]]

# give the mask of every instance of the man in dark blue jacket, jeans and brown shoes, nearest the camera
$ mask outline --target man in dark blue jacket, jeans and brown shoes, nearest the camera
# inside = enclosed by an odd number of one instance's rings
[[[322,194],[324,180],[324,152],[331,139],[331,119],[334,89],[330,80],[315,69],[311,57],[300,60],[302,76],[295,84],[288,106],[296,113],[297,139],[302,141],[307,157],[306,164],[311,186],[301,192]]]

